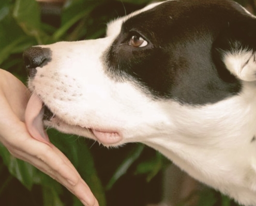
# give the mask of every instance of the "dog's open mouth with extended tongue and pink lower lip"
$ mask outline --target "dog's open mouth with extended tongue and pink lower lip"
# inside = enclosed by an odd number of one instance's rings
[[[55,119],[55,121],[53,121],[53,119]],[[54,114],[49,107],[44,105],[38,95],[32,93],[25,111],[25,124],[29,134],[31,134],[34,139],[49,144],[49,137],[44,129],[43,122],[55,122],[56,129],[59,129],[59,125],[62,125],[62,128],[59,130],[64,130],[66,133],[77,133],[76,131],[78,131],[79,135],[86,135],[86,137],[97,140],[106,146],[119,144],[123,139],[121,134],[113,129],[89,128],[68,124],[64,119]]]

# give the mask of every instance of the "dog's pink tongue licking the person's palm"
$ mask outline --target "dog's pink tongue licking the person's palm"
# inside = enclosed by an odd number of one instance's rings
[[[32,94],[28,100],[27,108],[25,111],[25,123],[28,132],[40,142],[49,144],[49,138],[46,131],[43,128],[43,107],[42,101],[36,94]]]

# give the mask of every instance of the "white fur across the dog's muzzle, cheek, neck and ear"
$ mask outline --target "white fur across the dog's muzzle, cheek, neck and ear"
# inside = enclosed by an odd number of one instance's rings
[[[107,146],[145,143],[192,177],[256,205],[256,143],[250,143],[256,135],[256,85],[254,67],[243,68],[250,55],[225,59],[232,73],[251,81],[239,95],[205,106],[152,100],[132,82],[116,82],[104,73],[101,55],[125,19],[109,24],[106,38],[44,46],[52,50],[52,61],[38,68],[29,88],[55,113],[47,124],[94,140],[86,128],[117,131],[122,141]]]

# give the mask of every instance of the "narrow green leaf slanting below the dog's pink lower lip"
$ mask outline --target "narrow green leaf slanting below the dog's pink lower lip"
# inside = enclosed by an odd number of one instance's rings
[[[128,168],[134,163],[141,155],[142,151],[144,149],[144,145],[138,144],[136,147],[134,147],[126,156],[124,161],[118,166],[116,169],[114,175],[108,182],[106,186],[106,190],[110,190],[114,183],[122,177],[124,174],[126,174],[126,171]]]

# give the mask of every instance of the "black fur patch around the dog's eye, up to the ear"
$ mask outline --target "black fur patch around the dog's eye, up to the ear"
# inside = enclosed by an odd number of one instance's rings
[[[108,50],[107,75],[134,81],[153,98],[213,104],[241,90],[215,41],[229,23],[249,19],[233,1],[170,1],[128,19]],[[140,35],[145,47],[129,40]],[[228,40],[227,40],[228,41]],[[217,51],[217,52],[216,52]]]

